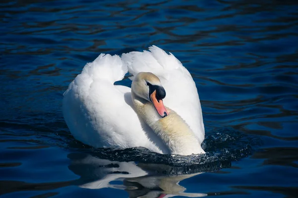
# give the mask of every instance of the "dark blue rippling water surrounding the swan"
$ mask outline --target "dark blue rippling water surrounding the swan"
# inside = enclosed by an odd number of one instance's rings
[[[296,197],[297,10],[295,0],[2,0],[1,197]],[[206,155],[94,149],[70,134],[62,98],[84,64],[150,45],[192,74]]]

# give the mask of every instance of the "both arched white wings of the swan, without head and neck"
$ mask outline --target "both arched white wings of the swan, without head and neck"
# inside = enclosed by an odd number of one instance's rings
[[[74,138],[92,147],[145,147],[169,153],[160,138],[139,119],[131,89],[115,86],[129,71],[154,73],[166,90],[165,106],[190,126],[200,144],[204,140],[202,109],[195,83],[181,62],[155,46],[150,51],[100,54],[87,63],[64,93],[63,114]]]

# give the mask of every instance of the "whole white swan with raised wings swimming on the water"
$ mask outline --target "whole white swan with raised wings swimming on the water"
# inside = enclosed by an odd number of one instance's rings
[[[190,73],[174,55],[154,46],[150,51],[123,54],[122,60],[100,54],[85,65],[64,94],[71,133],[96,148],[204,153],[202,109]],[[114,86],[127,71],[134,75],[132,89]]]

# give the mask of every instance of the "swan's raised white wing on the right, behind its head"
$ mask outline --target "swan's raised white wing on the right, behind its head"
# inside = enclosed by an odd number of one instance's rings
[[[156,46],[149,50],[122,54],[122,60],[131,74],[152,72],[160,79],[166,91],[164,104],[186,121],[202,143],[205,138],[202,108],[190,73],[173,54]]]

